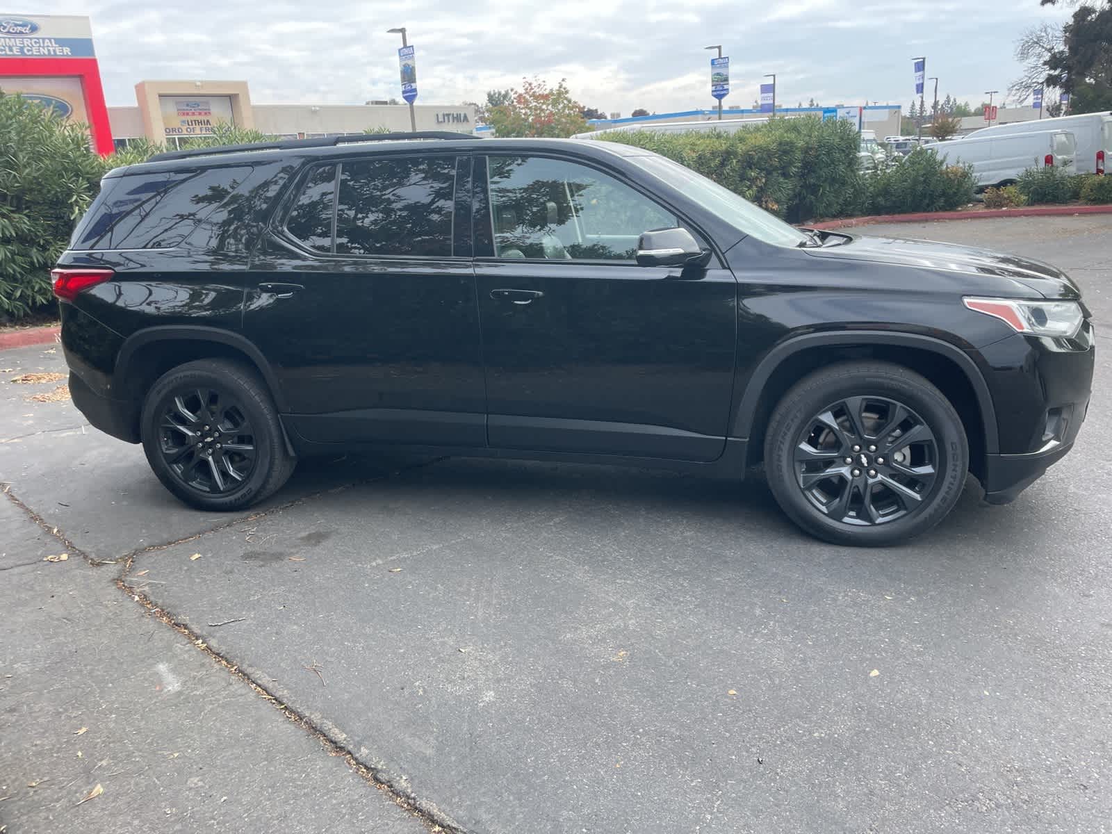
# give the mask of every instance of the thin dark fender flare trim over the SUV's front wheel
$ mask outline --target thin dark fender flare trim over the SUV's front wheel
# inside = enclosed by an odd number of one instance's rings
[[[935,339],[930,336],[920,336],[909,332],[888,332],[877,330],[838,330],[837,332],[804,334],[792,337],[773,347],[764,358],[757,363],[756,368],[749,376],[745,386],[745,391],[734,411],[731,423],[731,437],[748,438],[753,430],[753,419],[756,415],[757,403],[764,391],[768,379],[780,367],[781,363],[801,350],[814,347],[836,347],[841,345],[864,346],[870,345],[896,345],[910,347],[919,350],[930,350],[952,360],[965,375],[973,394],[976,396],[977,406],[981,411],[981,421],[984,429],[985,451],[995,455],[1000,451],[1000,435],[996,428],[996,408],[992,403],[992,395],[989,386],[984,381],[984,376],[976,363],[969,357],[961,348],[951,345],[949,341]]]

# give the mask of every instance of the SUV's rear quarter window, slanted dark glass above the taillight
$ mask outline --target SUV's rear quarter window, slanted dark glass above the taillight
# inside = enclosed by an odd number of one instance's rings
[[[239,189],[251,170],[251,166],[234,166],[107,179],[70,248],[179,246]]]

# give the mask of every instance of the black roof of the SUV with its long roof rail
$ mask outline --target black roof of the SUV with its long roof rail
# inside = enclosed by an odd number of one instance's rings
[[[193,148],[157,153],[145,162],[117,168],[108,173],[119,177],[125,173],[165,171],[180,168],[198,168],[244,162],[270,162],[280,158],[314,159],[332,156],[350,156],[353,150],[366,151],[428,151],[430,145],[436,150],[458,150],[484,152],[524,152],[526,150],[567,150],[574,146],[584,156],[610,157],[641,156],[646,151],[619,142],[597,139],[480,139],[469,133],[429,130],[416,133],[364,133],[336,136],[320,139],[281,139],[250,145],[226,145],[215,148]]]

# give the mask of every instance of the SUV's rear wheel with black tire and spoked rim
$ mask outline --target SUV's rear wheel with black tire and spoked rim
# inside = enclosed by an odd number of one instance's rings
[[[198,509],[257,504],[297,464],[266,384],[241,363],[199,359],[168,370],[148,391],[140,420],[150,468]]]

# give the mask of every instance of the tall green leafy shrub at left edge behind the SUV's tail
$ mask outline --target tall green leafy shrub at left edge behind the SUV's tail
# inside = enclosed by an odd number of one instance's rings
[[[0,93],[0,316],[53,301],[50,269],[103,173],[83,127]]]

